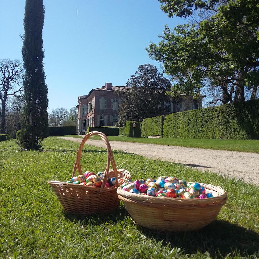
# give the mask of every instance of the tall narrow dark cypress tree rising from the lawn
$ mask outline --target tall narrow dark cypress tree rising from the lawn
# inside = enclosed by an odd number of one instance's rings
[[[44,13],[42,0],[26,0],[22,36],[25,104],[20,145],[27,150],[40,149],[41,141],[48,136],[48,87],[45,83],[42,39]]]

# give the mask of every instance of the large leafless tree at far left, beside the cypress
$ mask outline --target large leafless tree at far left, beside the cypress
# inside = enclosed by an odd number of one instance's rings
[[[5,133],[6,101],[9,96],[19,98],[23,91],[23,66],[19,60],[0,59],[1,133]]]

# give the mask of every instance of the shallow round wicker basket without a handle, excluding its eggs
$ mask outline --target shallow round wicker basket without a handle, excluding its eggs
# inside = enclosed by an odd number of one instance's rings
[[[157,231],[178,232],[201,229],[210,224],[226,203],[227,194],[219,186],[200,183],[208,199],[152,197],[117,189],[118,197],[137,225]]]

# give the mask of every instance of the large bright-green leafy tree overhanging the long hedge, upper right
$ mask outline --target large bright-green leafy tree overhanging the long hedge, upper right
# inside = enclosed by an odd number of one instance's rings
[[[202,9],[207,12],[207,18],[199,23],[180,25],[174,30],[165,27],[160,36],[162,41],[151,43],[147,49],[173,77],[172,96],[186,93],[197,98],[204,86],[220,88],[222,98],[216,101],[223,103],[244,101],[246,89],[252,91],[251,97],[256,95],[258,80],[254,74],[259,65],[256,0],[160,2],[169,17],[199,15]]]

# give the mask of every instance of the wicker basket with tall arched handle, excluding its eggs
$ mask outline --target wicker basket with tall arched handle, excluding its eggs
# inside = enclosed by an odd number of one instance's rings
[[[74,177],[76,169],[79,174],[82,174],[80,165],[80,158],[82,155],[82,148],[84,143],[93,135],[98,135],[105,142],[107,148],[107,166],[101,187],[84,186],[73,183],[64,183],[59,181],[48,181],[56,193],[64,211],[76,213],[80,215],[87,215],[95,212],[103,213],[111,211],[118,207],[119,199],[116,193],[117,188],[125,179],[130,179],[130,173],[124,169],[116,169],[115,160],[112,154],[110,143],[105,134],[93,131],[87,133],[82,139],[76,155],[76,162],[74,165],[71,179]],[[109,170],[110,163],[113,170]],[[115,177],[116,184],[110,187],[104,187],[108,177]],[[119,178],[119,182],[118,182]]]

